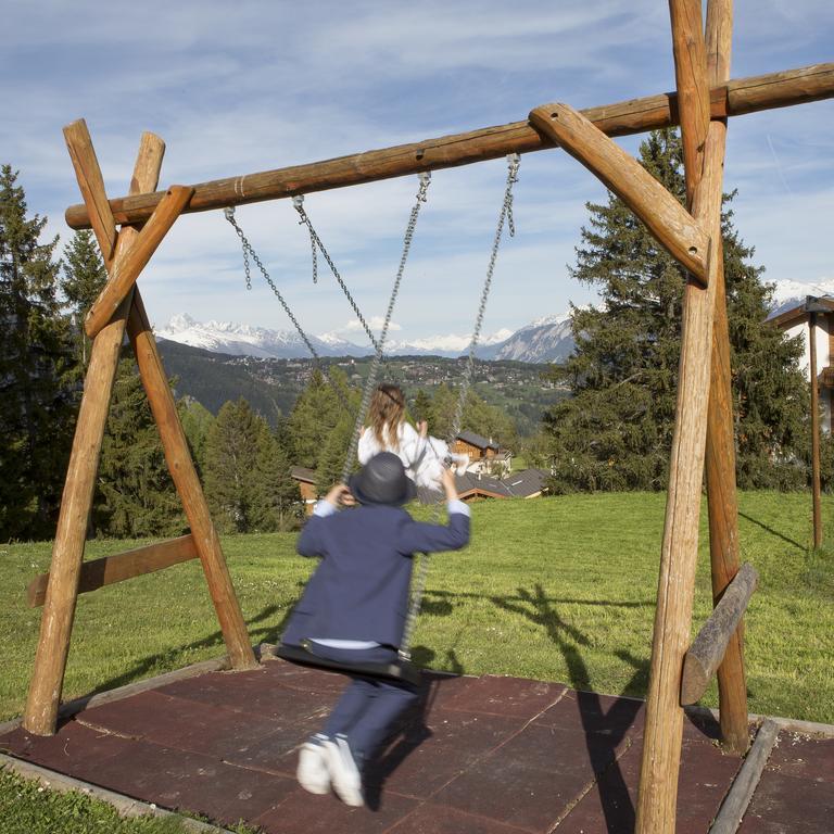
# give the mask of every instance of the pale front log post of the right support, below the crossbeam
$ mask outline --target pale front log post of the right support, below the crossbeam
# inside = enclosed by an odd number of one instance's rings
[[[695,190],[693,202],[694,216],[716,241],[721,239],[725,136],[726,127],[723,123],[710,123],[704,154],[704,176]],[[675,430],[637,795],[635,831],[639,834],[674,832],[683,732],[681,671],[690,641],[698,552],[718,263],[717,257],[710,260],[707,289],[691,280],[686,283],[683,296]]]

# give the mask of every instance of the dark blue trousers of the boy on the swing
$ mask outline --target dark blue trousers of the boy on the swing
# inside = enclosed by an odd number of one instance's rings
[[[375,648],[333,648],[316,644],[314,652],[329,660],[391,664],[396,652]],[[330,737],[342,734],[359,761],[367,761],[386,742],[396,719],[418,699],[418,687],[405,681],[351,674],[351,682],[330,712],[321,731]]]

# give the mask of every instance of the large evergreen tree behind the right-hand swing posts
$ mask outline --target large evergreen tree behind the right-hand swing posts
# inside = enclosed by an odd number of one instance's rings
[[[643,166],[684,201],[681,142],[672,130],[641,144]],[[725,197],[725,201],[732,199]],[[684,270],[618,198],[589,203],[589,226],[571,275],[595,287],[602,304],[571,308],[576,350],[551,374],[572,397],[554,405],[557,490],[664,489],[674,428]],[[764,325],[772,289],[722,217],[724,278],[734,374],[738,482],[785,485],[797,453],[807,397],[799,345]]]

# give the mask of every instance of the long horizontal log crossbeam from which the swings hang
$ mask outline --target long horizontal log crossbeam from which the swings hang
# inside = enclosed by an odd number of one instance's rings
[[[834,98],[834,64],[814,64],[712,87],[710,115],[712,118],[738,116],[830,98]],[[582,114],[607,136],[642,134],[679,124],[673,92],[590,108]],[[193,187],[194,194],[184,212],[277,200],[553,147],[527,121],[513,122],[334,160],[201,182]],[[116,223],[139,223],[151,216],[163,195],[164,192],[157,191],[121,197],[111,200],[110,207]],[[73,229],[90,228],[90,215],[84,204],[71,205],[65,216]]]

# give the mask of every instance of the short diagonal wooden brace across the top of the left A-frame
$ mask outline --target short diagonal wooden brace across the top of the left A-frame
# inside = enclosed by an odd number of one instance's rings
[[[144,228],[139,232],[136,243],[124,261],[113,268],[110,280],[87,313],[84,329],[90,339],[113,317],[193,193],[194,189],[190,186],[172,186],[167,190]]]

